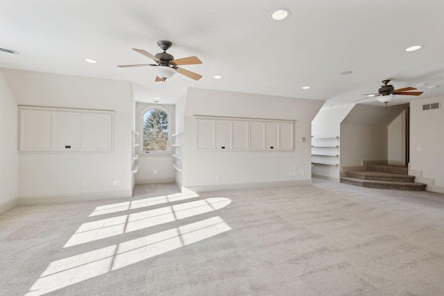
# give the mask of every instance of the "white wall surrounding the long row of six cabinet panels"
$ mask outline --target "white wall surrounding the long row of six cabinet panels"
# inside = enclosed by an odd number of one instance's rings
[[[188,89],[184,116],[183,186],[228,189],[280,182],[311,183],[311,121],[323,101],[237,92]],[[194,117],[229,116],[296,121],[292,152],[204,152],[194,150]],[[305,137],[305,143],[302,143]],[[296,177],[289,171],[296,168]],[[219,176],[219,181],[216,181]]]

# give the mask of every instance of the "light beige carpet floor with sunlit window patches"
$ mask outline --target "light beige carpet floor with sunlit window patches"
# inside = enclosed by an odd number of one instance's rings
[[[444,295],[444,195],[313,185],[16,207],[0,295]]]

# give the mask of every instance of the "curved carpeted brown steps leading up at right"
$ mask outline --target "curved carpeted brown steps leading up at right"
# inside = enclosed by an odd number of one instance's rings
[[[368,188],[425,191],[427,184],[416,183],[415,176],[408,175],[407,166],[370,165],[366,171],[345,172],[341,183]]]

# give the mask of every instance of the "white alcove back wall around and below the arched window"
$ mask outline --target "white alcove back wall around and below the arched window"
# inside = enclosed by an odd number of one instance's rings
[[[175,107],[174,105],[158,105],[147,103],[136,103],[136,129],[139,131],[142,139],[142,116],[144,110],[148,107],[162,107],[171,115],[170,117],[170,136],[175,133]],[[170,143],[173,139],[170,139]],[[142,142],[141,142],[142,143]],[[142,146],[141,146],[142,147]],[[171,145],[169,147],[171,149]],[[140,151],[140,150],[139,150]],[[172,151],[172,150],[171,150]],[[170,152],[171,152],[170,151]],[[136,184],[167,183],[174,182],[176,171],[173,168],[173,157],[171,153],[166,155],[139,154],[137,159],[139,171],[135,173]]]

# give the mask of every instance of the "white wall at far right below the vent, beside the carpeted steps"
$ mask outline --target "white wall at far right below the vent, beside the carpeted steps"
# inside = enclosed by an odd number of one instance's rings
[[[439,109],[422,110],[422,105],[440,103]],[[444,98],[427,98],[410,103],[410,170],[427,191],[444,193]]]

